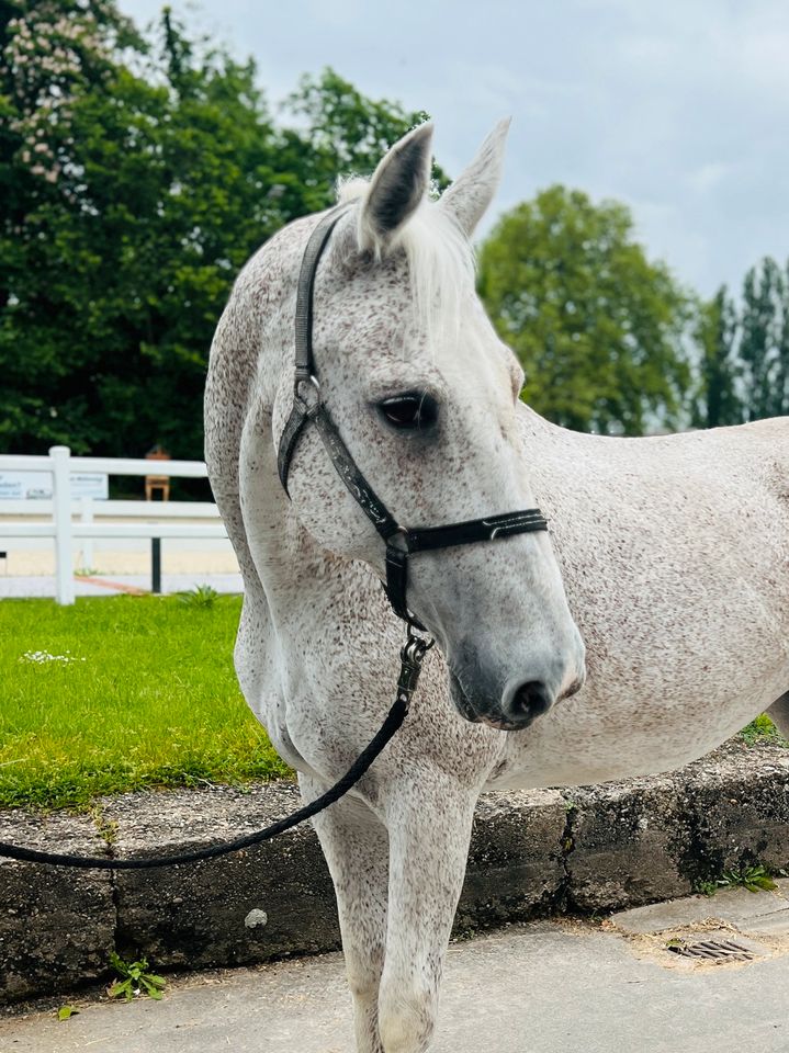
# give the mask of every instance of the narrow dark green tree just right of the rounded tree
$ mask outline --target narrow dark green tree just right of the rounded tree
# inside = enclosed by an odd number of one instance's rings
[[[736,354],[737,314],[725,285],[713,298],[699,306],[695,337],[701,351],[699,398],[694,407],[694,424],[717,428],[739,424],[743,406],[736,384],[742,366]]]

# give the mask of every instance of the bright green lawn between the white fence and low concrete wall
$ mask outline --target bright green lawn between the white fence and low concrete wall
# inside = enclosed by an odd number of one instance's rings
[[[239,614],[238,597],[2,600],[0,807],[289,774],[236,681]]]

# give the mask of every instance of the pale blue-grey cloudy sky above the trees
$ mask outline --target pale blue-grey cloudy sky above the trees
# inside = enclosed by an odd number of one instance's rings
[[[563,182],[617,197],[652,257],[703,294],[789,256],[787,0],[172,0],[252,54],[271,102],[332,66],[436,122],[451,176],[512,116],[486,222]],[[160,0],[121,0],[140,23]]]

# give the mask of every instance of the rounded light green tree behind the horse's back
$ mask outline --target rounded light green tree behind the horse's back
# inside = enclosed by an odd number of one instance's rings
[[[564,186],[523,202],[482,247],[480,291],[538,412],[629,435],[677,421],[689,298],[646,259],[623,205]]]

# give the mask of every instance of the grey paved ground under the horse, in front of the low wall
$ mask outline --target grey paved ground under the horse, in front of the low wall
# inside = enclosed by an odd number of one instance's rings
[[[789,893],[785,886],[782,890]],[[710,916],[714,920],[709,920]],[[747,963],[667,949],[715,937]],[[789,899],[723,893],[615,916],[539,922],[450,948],[431,1053],[787,1053]],[[0,1023],[2,1053],[351,1053],[338,954],[172,981],[162,1003],[77,1000]]]

